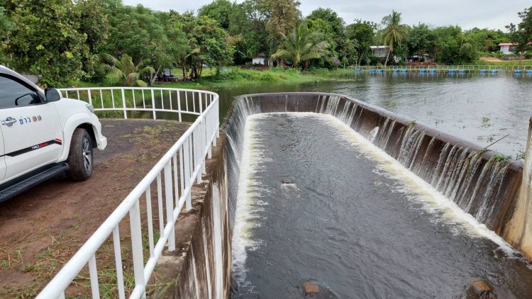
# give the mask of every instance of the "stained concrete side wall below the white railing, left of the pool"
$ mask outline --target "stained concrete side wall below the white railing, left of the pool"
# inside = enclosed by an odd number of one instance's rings
[[[192,191],[192,210],[176,223],[176,250],[163,252],[150,284],[162,298],[228,298],[231,232],[228,225],[226,138],[206,160],[204,183]]]

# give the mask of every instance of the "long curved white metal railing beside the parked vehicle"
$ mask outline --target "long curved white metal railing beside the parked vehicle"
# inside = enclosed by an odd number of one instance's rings
[[[218,94],[210,91],[148,88],[62,89],[62,92],[64,96],[68,92],[68,96],[76,95],[75,98],[89,103],[99,102],[95,111],[123,111],[124,118],[128,117],[128,111],[151,111],[154,119],[157,112],[177,113],[179,120],[182,114],[198,115],[182,137],[179,137],[155,167],[133,188],[109,218],[37,296],[37,298],[65,298],[65,290],[88,264],[92,298],[100,298],[96,251],[111,238],[112,234],[118,298],[126,298],[126,293],[129,293],[130,298],[143,298],[146,285],[163,249],[167,247],[170,251],[175,250],[175,222],[183,206],[187,210],[192,208],[192,186],[194,181],[201,183],[201,174],[205,173],[205,157],[210,158],[211,146],[216,146],[219,127]],[[99,94],[99,97],[95,98],[94,93]],[[118,98],[113,94],[118,94]],[[132,96],[128,97],[130,94]],[[135,94],[137,98],[133,99]],[[160,95],[159,98],[157,94]],[[173,101],[172,94],[175,96]],[[156,195],[153,195],[153,188],[157,188]],[[145,230],[148,230],[149,258],[146,261],[143,252],[145,247],[143,247],[142,233],[143,215],[140,213],[141,199],[145,202],[143,212],[147,222]],[[154,204],[157,205],[155,210],[158,212],[160,234],[158,240],[155,240],[153,227],[152,205]],[[126,215],[129,215],[134,275],[134,288],[129,290],[124,286],[122,244],[119,233],[120,223],[123,221],[127,223]]]

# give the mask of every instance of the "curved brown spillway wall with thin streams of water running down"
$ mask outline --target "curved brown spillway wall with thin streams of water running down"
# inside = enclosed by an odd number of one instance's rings
[[[523,174],[519,162],[345,96],[316,93],[241,96],[228,118],[229,128],[243,126],[248,115],[271,112],[335,116],[499,235],[504,233],[509,211],[516,208],[514,200]],[[239,135],[233,134],[232,138],[238,139]],[[233,151],[241,151],[242,140],[232,141]],[[231,165],[235,167],[236,163]]]

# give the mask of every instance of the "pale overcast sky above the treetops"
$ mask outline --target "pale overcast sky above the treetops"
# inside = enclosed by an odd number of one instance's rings
[[[532,5],[531,0],[300,0],[299,10],[304,16],[318,7],[336,11],[345,23],[360,18],[380,23],[383,16],[392,9],[402,13],[403,22],[408,25],[427,23],[434,26],[458,25],[464,29],[473,27],[501,29],[509,23],[519,23],[518,11]],[[238,0],[237,2],[242,2]],[[157,11],[198,11],[211,0],[123,0],[123,4],[143,6]]]

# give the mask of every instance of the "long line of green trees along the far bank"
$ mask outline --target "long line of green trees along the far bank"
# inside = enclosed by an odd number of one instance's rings
[[[147,83],[165,67],[181,67],[184,78],[196,78],[205,64],[220,69],[249,63],[256,55],[303,68],[336,67],[338,61],[395,64],[414,55],[464,64],[498,52],[501,42],[529,50],[531,11],[520,12],[521,23],[510,24],[504,33],[408,26],[397,11],[382,23],[346,23],[327,8],[302,16],[296,0],[214,0],[197,13],[153,11],[121,0],[0,0],[0,63],[41,74],[41,82],[51,86],[101,81],[116,64],[136,66],[132,74]],[[387,57],[374,57],[371,45],[388,45]],[[140,83],[123,84],[131,82]]]

